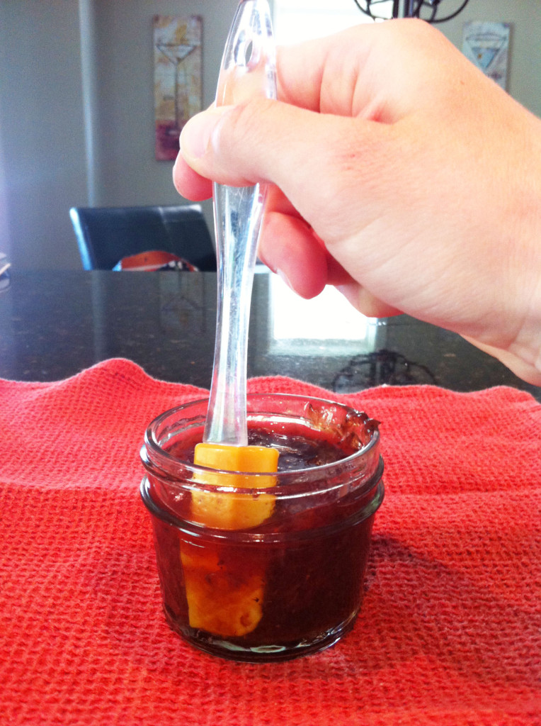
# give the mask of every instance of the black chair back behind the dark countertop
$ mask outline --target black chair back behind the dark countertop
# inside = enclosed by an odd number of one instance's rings
[[[216,254],[199,205],[72,207],[83,268],[112,269],[122,258],[160,250],[214,272]]]

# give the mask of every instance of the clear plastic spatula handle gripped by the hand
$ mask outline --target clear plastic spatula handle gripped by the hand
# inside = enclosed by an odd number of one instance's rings
[[[241,0],[223,52],[216,105],[276,98],[276,62],[267,0]],[[203,441],[247,446],[246,379],[249,309],[264,186],[214,184],[218,318]]]

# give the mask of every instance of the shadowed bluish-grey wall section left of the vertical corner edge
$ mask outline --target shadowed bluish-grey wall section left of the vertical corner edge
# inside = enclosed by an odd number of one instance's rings
[[[80,265],[66,218],[86,197],[83,147],[76,0],[1,0],[0,250],[15,267]]]

